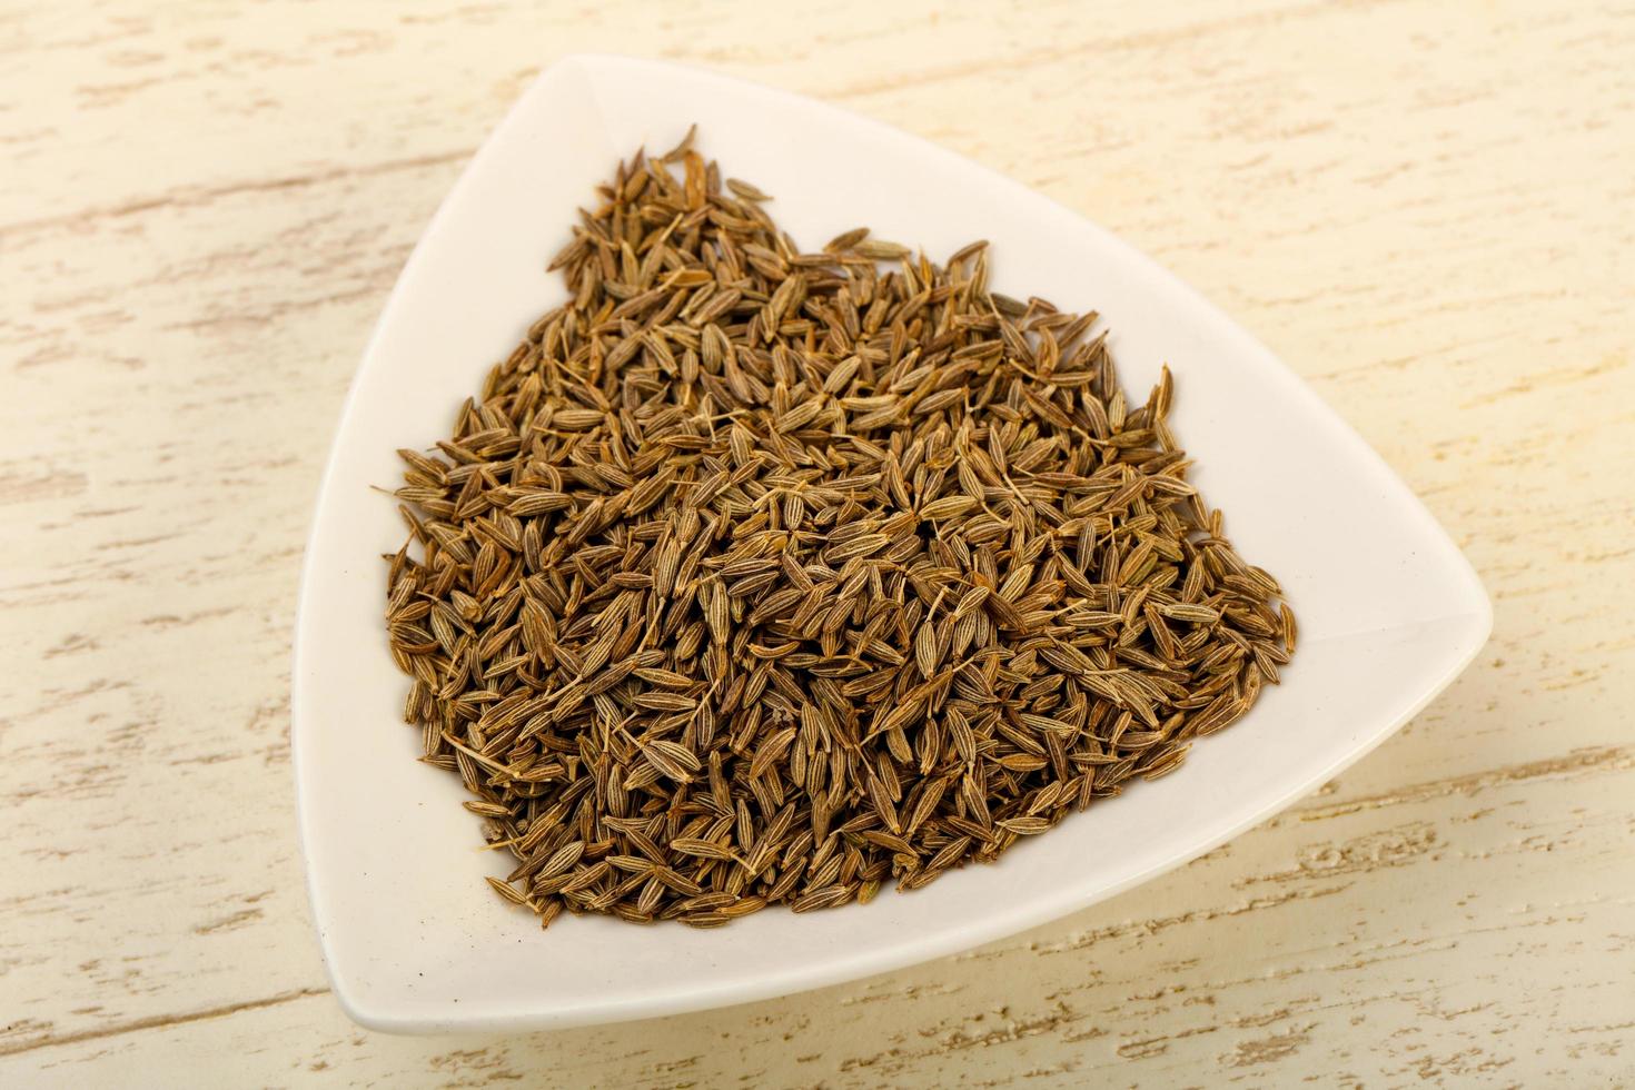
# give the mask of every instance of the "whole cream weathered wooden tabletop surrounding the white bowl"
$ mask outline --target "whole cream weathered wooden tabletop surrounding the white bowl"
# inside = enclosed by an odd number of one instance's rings
[[[1635,8],[7,8],[0,1083],[1635,1083]],[[1154,253],[1426,497],[1493,642],[1318,796],[984,949],[355,1028],[291,812],[309,503],[427,217],[584,49],[840,103]]]

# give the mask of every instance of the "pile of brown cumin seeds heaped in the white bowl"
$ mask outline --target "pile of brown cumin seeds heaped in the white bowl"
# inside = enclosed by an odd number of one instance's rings
[[[621,163],[543,315],[402,451],[387,628],[425,760],[564,909],[718,927],[989,861],[1231,724],[1295,646],[1094,314],[690,145]],[[1091,820],[1091,819],[1086,819]]]

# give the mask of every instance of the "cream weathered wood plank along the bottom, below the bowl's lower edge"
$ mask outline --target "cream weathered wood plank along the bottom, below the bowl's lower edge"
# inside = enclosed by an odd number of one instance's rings
[[[1612,748],[1329,794],[1046,928],[768,1003],[389,1038],[291,989],[0,1062],[60,1085],[111,1069],[162,1082],[183,1056],[234,1057],[234,1080],[257,1085],[1571,1083],[1630,1059],[1628,977],[1610,969],[1632,959],[1635,897],[1617,892],[1632,788],[1635,752]],[[1592,959],[1588,935],[1610,940]]]

